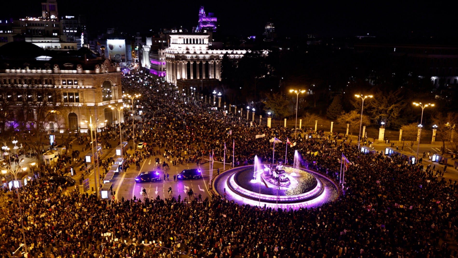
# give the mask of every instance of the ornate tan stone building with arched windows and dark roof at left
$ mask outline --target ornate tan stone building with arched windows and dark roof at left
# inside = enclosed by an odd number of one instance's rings
[[[46,112],[56,114],[43,121],[43,128],[49,131],[86,132],[88,126],[81,122],[90,116],[94,123],[98,120],[98,127],[123,121],[108,107],[123,104],[120,67],[87,47],[62,55],[31,43],[13,42],[0,47],[0,58],[0,102],[6,110],[0,123],[4,128],[21,130],[21,124],[27,123],[25,107],[38,110],[34,105],[44,103],[49,105],[42,107]]]

